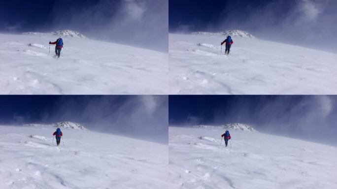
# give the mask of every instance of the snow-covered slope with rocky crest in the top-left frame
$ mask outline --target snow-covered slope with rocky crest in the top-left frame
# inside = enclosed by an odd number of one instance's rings
[[[168,94],[168,54],[76,32],[0,34],[0,57],[0,94]]]

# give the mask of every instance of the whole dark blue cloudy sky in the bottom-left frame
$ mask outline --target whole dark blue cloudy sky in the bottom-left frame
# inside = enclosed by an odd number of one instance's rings
[[[168,96],[0,95],[0,124],[70,121],[88,129],[168,142]]]

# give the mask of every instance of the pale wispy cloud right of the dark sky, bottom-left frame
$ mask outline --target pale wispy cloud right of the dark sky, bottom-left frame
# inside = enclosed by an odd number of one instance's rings
[[[105,133],[167,143],[168,96],[61,96],[41,122],[71,121]]]

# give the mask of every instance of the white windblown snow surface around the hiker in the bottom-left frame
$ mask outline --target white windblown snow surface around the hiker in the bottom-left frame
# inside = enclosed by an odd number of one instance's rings
[[[168,146],[97,132],[0,126],[1,189],[168,189]]]

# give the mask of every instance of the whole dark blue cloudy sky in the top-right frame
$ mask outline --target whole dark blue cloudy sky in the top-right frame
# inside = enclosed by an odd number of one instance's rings
[[[169,32],[238,29],[336,53],[336,10],[336,0],[169,0]]]

